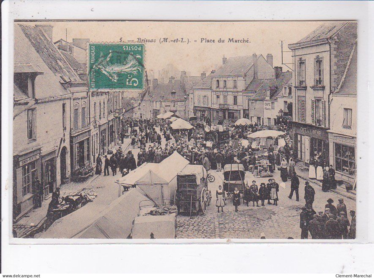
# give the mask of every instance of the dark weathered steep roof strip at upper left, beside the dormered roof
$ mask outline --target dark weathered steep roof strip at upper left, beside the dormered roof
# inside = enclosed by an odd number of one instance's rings
[[[21,24],[19,24],[19,27],[54,74],[68,76],[72,81],[80,80],[76,72],[74,72],[61,55],[61,52],[58,51],[55,44],[45,36],[42,29]]]

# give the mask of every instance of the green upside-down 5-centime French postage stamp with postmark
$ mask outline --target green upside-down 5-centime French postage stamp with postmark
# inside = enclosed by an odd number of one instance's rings
[[[144,88],[143,44],[89,44],[90,90]]]

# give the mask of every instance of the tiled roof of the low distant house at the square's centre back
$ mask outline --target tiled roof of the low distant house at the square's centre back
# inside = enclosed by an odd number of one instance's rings
[[[171,97],[171,92],[175,92],[175,99]],[[184,101],[186,91],[180,80],[174,80],[169,83],[159,83],[156,88],[150,88],[148,98],[151,100],[176,100]]]

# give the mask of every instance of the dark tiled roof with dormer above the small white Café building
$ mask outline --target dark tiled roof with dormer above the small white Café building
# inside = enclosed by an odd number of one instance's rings
[[[292,72],[282,72],[277,79],[264,79],[251,100],[264,100],[266,90],[270,90],[270,99],[276,99],[278,94],[281,93],[283,85],[289,84],[291,79]]]

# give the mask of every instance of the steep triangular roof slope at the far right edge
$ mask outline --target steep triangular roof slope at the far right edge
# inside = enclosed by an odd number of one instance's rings
[[[346,71],[336,93],[357,94],[357,45],[351,52]]]

